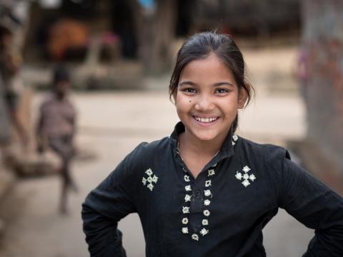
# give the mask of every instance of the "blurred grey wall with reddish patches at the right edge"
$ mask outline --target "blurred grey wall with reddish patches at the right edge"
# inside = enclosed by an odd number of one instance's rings
[[[343,1],[303,1],[309,138],[343,173]]]

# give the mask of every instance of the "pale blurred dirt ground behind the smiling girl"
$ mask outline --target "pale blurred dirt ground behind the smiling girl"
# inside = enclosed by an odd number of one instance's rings
[[[249,79],[257,89],[256,100],[240,113],[239,134],[258,142],[285,145],[306,133],[305,111],[292,77],[296,50],[260,49],[244,51]],[[147,79],[145,91],[112,91],[72,95],[79,111],[79,148],[96,158],[76,160],[73,176],[79,192],[69,196],[69,215],[57,212],[60,181],[57,176],[21,179],[4,203],[1,216],[6,234],[1,257],[81,257],[88,256],[81,231],[81,203],[141,141],[168,136],[178,121],[169,101],[168,77]],[[42,94],[34,94],[32,112]],[[144,238],[136,214],[119,223],[128,256],[144,256]],[[268,256],[301,256],[313,231],[285,211],[264,229]]]

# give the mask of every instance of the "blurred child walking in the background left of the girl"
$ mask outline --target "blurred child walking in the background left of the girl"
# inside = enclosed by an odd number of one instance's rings
[[[69,71],[64,66],[54,69],[52,91],[40,107],[37,126],[38,151],[51,148],[61,157],[61,201],[59,211],[67,212],[67,193],[77,191],[71,178],[70,162],[74,156],[75,116],[74,105],[68,99],[70,88]]]

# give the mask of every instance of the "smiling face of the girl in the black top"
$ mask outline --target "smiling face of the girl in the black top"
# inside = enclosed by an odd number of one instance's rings
[[[232,71],[215,55],[184,66],[174,94],[185,136],[197,141],[224,141],[247,92],[238,89]]]

